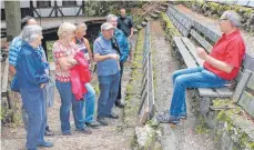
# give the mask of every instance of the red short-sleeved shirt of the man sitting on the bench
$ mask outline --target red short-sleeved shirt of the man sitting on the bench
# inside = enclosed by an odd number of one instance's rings
[[[204,68],[225,80],[232,80],[238,73],[244,53],[245,44],[243,38],[241,37],[240,30],[236,30],[231,34],[223,33],[222,38],[214,44],[210,56],[227,63],[228,66],[232,66],[232,71],[226,73],[214,68],[206,61],[204,62]]]

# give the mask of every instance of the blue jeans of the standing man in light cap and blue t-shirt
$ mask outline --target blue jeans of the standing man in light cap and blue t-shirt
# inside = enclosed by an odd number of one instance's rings
[[[112,107],[118,97],[120,73],[111,76],[98,76],[100,82],[100,97],[98,101],[98,117],[111,114]]]

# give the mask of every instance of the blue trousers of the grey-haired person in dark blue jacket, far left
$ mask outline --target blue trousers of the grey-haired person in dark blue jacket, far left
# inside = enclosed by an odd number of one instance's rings
[[[45,101],[42,89],[20,89],[22,103],[28,113],[27,149],[35,149],[44,142]]]

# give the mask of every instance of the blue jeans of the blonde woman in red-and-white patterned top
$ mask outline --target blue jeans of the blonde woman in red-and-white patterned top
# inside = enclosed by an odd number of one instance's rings
[[[82,130],[85,128],[83,121],[83,101],[77,101],[71,91],[71,82],[60,82],[55,80],[57,89],[61,98],[60,120],[62,133],[71,132],[70,111],[72,106],[72,113],[74,118],[75,129]]]

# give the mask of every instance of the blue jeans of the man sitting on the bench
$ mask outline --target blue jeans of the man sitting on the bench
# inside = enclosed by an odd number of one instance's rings
[[[172,74],[172,80],[174,91],[170,114],[174,117],[186,113],[186,88],[221,88],[227,83],[227,80],[217,77],[202,67],[177,70]]]

